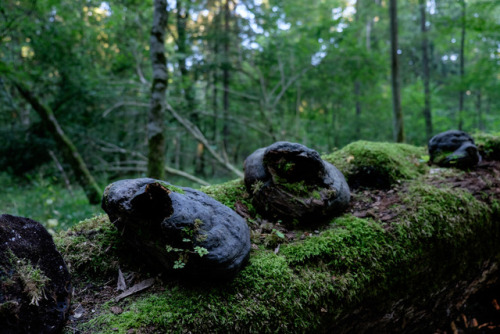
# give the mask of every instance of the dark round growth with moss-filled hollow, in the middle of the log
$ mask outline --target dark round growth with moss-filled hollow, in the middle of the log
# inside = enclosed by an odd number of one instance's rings
[[[245,186],[264,216],[285,222],[312,222],[344,211],[350,191],[342,173],[318,152],[277,142],[245,160]]]

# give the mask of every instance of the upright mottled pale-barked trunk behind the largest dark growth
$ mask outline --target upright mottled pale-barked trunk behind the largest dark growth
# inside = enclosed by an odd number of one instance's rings
[[[165,178],[165,102],[168,84],[167,58],[165,56],[165,30],[168,12],[166,0],[154,0],[153,27],[150,38],[153,84],[148,117],[148,176]]]

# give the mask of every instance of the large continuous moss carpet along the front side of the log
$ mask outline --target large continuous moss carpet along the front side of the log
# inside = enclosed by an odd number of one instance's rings
[[[95,333],[327,331],[367,298],[383,305],[389,296],[431,291],[429,281],[467,272],[470,262],[464,258],[481,260],[497,247],[477,245],[477,235],[498,233],[498,205],[418,183],[409,186],[402,205],[400,218],[388,225],[345,215],[316,236],[282,245],[278,254],[255,249],[250,263],[225,285],[157,282],[161,288],[155,293],[120,302],[123,313],[111,312],[109,303],[84,327]]]

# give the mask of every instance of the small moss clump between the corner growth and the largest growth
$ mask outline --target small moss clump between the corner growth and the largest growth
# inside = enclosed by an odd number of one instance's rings
[[[72,273],[98,278],[118,269],[116,250],[121,240],[106,215],[84,220],[58,233],[54,242]]]

